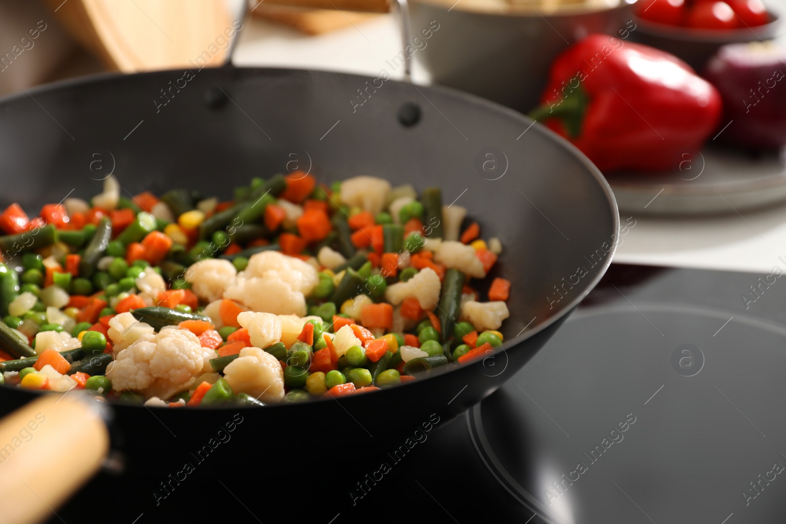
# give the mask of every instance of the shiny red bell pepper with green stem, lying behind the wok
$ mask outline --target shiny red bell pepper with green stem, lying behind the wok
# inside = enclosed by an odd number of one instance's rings
[[[677,57],[589,35],[556,57],[531,117],[602,171],[677,167],[709,137],[721,97]]]

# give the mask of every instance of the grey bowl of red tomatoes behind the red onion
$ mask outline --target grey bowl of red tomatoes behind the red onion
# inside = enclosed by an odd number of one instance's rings
[[[730,43],[774,38],[780,15],[761,0],[648,0],[635,10],[633,38],[663,49],[702,71],[718,49]]]

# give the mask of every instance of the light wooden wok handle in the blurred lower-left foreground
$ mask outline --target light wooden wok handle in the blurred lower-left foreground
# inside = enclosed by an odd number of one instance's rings
[[[92,477],[109,449],[97,405],[79,394],[46,394],[0,421],[4,522],[32,524]]]

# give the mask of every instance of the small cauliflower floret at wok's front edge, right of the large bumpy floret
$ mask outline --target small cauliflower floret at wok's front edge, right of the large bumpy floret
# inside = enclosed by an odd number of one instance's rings
[[[224,368],[224,378],[235,393],[246,393],[263,402],[284,398],[284,370],[276,357],[259,347],[244,347]]]

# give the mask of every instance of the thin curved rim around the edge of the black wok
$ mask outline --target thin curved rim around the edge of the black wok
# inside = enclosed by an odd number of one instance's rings
[[[373,76],[368,76],[368,75],[358,75],[355,73],[347,73],[343,71],[329,71],[323,69],[279,68],[279,67],[275,67],[275,68],[242,67],[241,68],[233,64],[227,64],[219,68],[210,68],[210,69],[214,71],[214,74],[216,74],[218,71],[222,71],[224,74],[231,74],[231,71],[259,71],[259,72],[269,71],[271,73],[286,72],[291,74],[297,74],[297,73],[311,74],[317,72],[323,75],[326,74],[326,75],[334,75],[334,76],[351,77],[358,80],[362,79],[363,81],[374,79]],[[35,86],[31,89],[23,90],[17,93],[11,93],[9,95],[6,95],[5,97],[0,97],[0,105],[6,104],[11,101],[19,100],[21,98],[24,98],[26,95],[32,97],[33,94],[49,93],[61,89],[68,89],[77,86],[87,86],[89,84],[97,84],[100,82],[115,82],[118,79],[123,79],[126,77],[137,78],[140,76],[147,76],[147,75],[150,76],[166,75],[166,74],[174,73],[176,71],[179,72],[182,71],[182,69],[178,68],[178,69],[163,69],[157,71],[145,71],[141,73],[133,73],[130,75],[126,75],[119,72],[101,72],[94,75],[80,76],[75,79],[64,79],[64,80],[59,80],[57,82],[42,84],[41,86]],[[418,377],[417,381],[415,381],[416,383],[425,383],[427,380],[435,379],[438,376],[442,376],[446,373],[453,372],[458,368],[468,368],[472,366],[477,366],[479,364],[482,364],[483,361],[485,361],[487,358],[496,357],[498,354],[506,353],[508,350],[512,350],[516,348],[516,346],[520,346],[520,344],[522,344],[527,339],[530,339],[534,335],[538,335],[538,333],[544,331],[546,328],[549,328],[551,325],[555,324],[556,322],[561,321],[564,317],[567,317],[568,314],[570,314],[573,310],[575,310],[576,306],[578,306],[578,304],[582,302],[583,299],[586,298],[586,295],[589,295],[589,292],[592,291],[597,286],[597,284],[601,281],[601,278],[603,278],[604,274],[608,270],[608,267],[611,266],[612,264],[612,259],[614,258],[618,245],[618,242],[613,240],[612,237],[615,235],[619,235],[619,223],[620,223],[619,207],[617,206],[617,201],[615,199],[614,192],[612,192],[612,187],[611,185],[608,184],[606,178],[604,178],[604,175],[601,173],[601,170],[599,170],[583,152],[581,152],[575,145],[571,144],[571,142],[568,141],[566,138],[561,137],[559,134],[556,134],[548,127],[543,126],[540,123],[534,122],[527,115],[517,112],[515,109],[506,107],[502,104],[498,104],[496,102],[487,100],[483,97],[479,97],[471,93],[466,93],[464,91],[457,90],[451,87],[440,86],[440,85],[417,86],[417,84],[414,84],[412,82],[406,82],[406,81],[395,80],[395,79],[389,79],[387,80],[387,82],[395,82],[395,84],[407,86],[408,89],[415,88],[417,90],[427,90],[430,93],[438,93],[446,97],[452,97],[454,98],[454,100],[460,101],[462,104],[474,105],[476,107],[483,108],[486,112],[495,112],[499,115],[504,115],[509,119],[517,119],[520,121],[520,123],[522,123],[524,128],[528,129],[529,126],[533,127],[536,132],[541,133],[542,135],[544,135],[545,138],[555,142],[558,147],[564,148],[566,152],[572,154],[572,156],[574,156],[576,159],[578,159],[580,163],[582,163],[582,165],[586,168],[589,174],[594,178],[594,180],[600,186],[604,196],[606,197],[606,203],[608,203],[608,211],[612,215],[611,216],[612,230],[608,232],[608,238],[609,240],[612,240],[611,242],[612,248],[606,254],[607,256],[604,258],[604,262],[598,268],[595,277],[589,280],[589,284],[586,285],[584,291],[578,293],[578,295],[576,295],[573,300],[567,302],[560,311],[553,314],[553,316],[549,317],[546,321],[542,322],[541,324],[537,324],[534,328],[531,328],[526,333],[516,335],[512,339],[505,340],[500,346],[495,348],[491,354],[487,355],[487,357],[483,357],[483,359],[478,359],[475,362],[468,363],[465,365],[459,365],[459,366],[454,366],[453,365],[454,362],[449,362],[448,365],[440,366],[439,368],[429,371],[428,374]],[[533,124],[538,124],[538,125],[533,125]],[[384,388],[384,390],[375,391],[373,393],[384,394],[385,390],[398,390],[399,387],[406,387],[408,384],[409,383],[399,383],[393,387],[386,387]],[[24,393],[30,394],[31,398],[35,398],[35,396],[40,394],[51,393],[50,391],[43,391],[43,390],[26,390],[18,386],[10,386],[3,383],[2,386],[0,386],[0,391],[6,389],[24,391]],[[361,395],[361,396],[365,396],[365,395]],[[357,400],[358,395],[349,395],[347,397],[341,397],[341,398],[315,398],[315,399],[310,399],[307,402],[298,402],[298,403],[286,403],[284,401],[281,401],[276,404],[267,404],[265,405],[265,408],[266,410],[271,408],[292,409],[296,405],[313,405],[316,402],[325,402],[331,400],[342,400],[342,401],[349,400],[351,403],[355,401],[355,400],[351,400],[353,398]],[[136,409],[140,409],[140,408],[170,409],[164,406],[147,406],[141,402],[139,406],[136,406],[129,402],[121,403],[117,401],[108,401],[108,405],[111,405],[112,407],[120,405],[123,406],[124,409],[129,408],[131,406],[134,406]],[[244,409],[244,408],[254,409],[255,407],[256,406],[238,406],[238,405],[196,406],[196,409],[189,408],[188,411],[199,412],[200,410],[237,410],[237,409]]]

